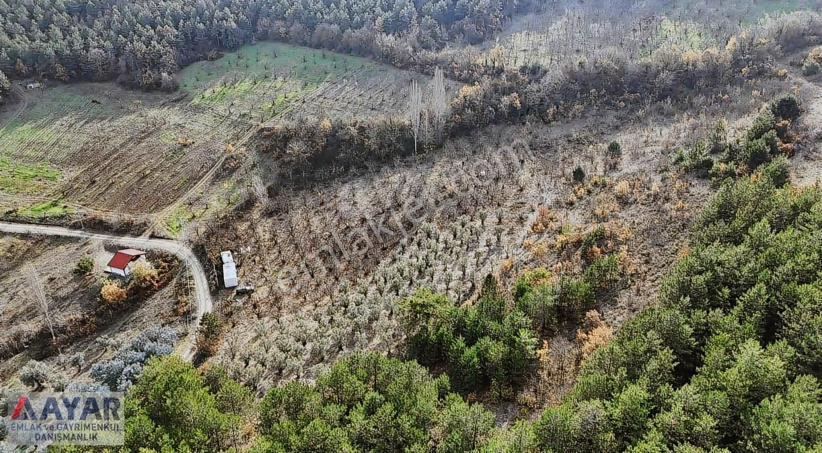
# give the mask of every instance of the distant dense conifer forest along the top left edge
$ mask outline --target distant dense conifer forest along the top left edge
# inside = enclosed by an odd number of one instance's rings
[[[401,67],[453,39],[479,42],[532,0],[0,2],[0,71],[143,89],[258,39],[372,56]],[[424,59],[431,59],[430,55]],[[0,87],[2,90],[2,87]]]

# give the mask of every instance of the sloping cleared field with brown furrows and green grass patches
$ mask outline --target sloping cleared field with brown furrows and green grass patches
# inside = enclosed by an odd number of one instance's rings
[[[364,58],[261,43],[192,64],[170,95],[90,83],[29,91],[28,107],[0,129],[0,193],[12,199],[0,209],[154,213],[261,122],[401,113],[412,78],[427,84]]]

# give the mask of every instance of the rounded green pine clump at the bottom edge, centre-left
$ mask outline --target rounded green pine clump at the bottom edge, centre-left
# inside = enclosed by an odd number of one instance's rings
[[[354,354],[316,385],[291,382],[260,403],[252,451],[472,451],[494,427],[491,413],[450,393],[446,375],[415,362]],[[435,434],[436,433],[436,434]]]

